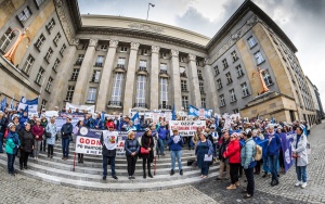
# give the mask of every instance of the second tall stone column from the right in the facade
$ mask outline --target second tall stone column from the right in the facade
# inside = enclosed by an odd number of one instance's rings
[[[200,92],[198,86],[197,67],[196,67],[196,55],[188,54],[188,82],[192,104],[196,107],[200,107]]]

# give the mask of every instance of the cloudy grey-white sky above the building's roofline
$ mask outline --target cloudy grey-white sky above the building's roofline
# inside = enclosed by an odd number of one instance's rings
[[[252,0],[294,42],[304,74],[325,104],[325,0]],[[244,0],[78,0],[81,14],[160,22],[212,37]],[[91,3],[90,3],[91,2]],[[324,55],[323,55],[324,54]]]

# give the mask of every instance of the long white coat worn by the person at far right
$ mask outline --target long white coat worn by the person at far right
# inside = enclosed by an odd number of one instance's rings
[[[302,133],[297,144],[297,135],[294,136],[294,141],[291,143],[292,153],[298,153],[298,157],[294,157],[294,164],[296,166],[307,166],[308,165],[308,152],[307,152],[307,136]],[[296,148],[297,144],[297,148]]]

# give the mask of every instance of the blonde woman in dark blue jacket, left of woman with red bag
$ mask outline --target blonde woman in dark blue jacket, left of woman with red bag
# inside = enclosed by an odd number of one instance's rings
[[[140,151],[140,143],[135,139],[135,133],[132,130],[128,131],[128,139],[125,142],[125,150],[128,161],[128,174],[129,179],[135,179],[134,171],[135,171],[135,164]]]

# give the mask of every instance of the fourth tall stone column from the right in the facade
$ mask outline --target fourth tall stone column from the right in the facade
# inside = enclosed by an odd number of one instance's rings
[[[152,46],[152,69],[151,69],[151,110],[158,110],[159,104],[159,50],[160,47]]]

